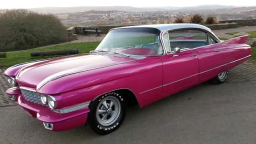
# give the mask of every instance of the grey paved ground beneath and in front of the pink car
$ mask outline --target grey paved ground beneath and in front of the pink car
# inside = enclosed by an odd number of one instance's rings
[[[47,131],[3,98],[0,143],[256,143],[255,68],[246,61],[231,69],[221,85],[205,82],[147,107],[131,107],[123,125],[105,136],[83,126]]]

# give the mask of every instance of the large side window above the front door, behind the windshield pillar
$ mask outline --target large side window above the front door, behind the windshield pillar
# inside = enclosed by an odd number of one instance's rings
[[[207,34],[201,30],[184,29],[169,31],[169,39],[171,51],[175,47],[179,47],[182,50],[207,45]]]

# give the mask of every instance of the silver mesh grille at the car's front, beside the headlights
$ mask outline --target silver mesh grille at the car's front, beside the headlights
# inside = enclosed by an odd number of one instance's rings
[[[21,93],[23,95],[23,97],[30,102],[36,103],[36,104],[40,104],[40,105],[44,105],[42,104],[41,101],[41,96],[39,93],[34,92],[34,91],[30,91],[30,90],[26,90],[26,89],[20,89]],[[45,105],[46,106],[46,105]]]

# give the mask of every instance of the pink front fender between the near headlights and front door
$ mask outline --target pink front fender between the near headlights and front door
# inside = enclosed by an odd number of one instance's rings
[[[152,58],[154,58],[153,62]],[[139,93],[162,84],[161,58],[152,58],[136,63],[128,62],[123,66],[113,65],[66,75],[47,82],[38,92],[49,95],[60,94],[62,98],[57,103],[59,107],[64,107],[93,100],[109,91],[129,89],[137,96],[140,103],[143,98],[139,98],[141,95]],[[160,94],[159,92],[160,89],[157,89],[153,94]],[[143,94],[147,95],[147,93]],[[147,98],[150,99],[150,96]]]

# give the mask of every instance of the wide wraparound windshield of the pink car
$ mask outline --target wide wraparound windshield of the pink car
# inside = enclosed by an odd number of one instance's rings
[[[109,31],[95,50],[131,55],[160,55],[163,48],[156,28],[121,28]]]

